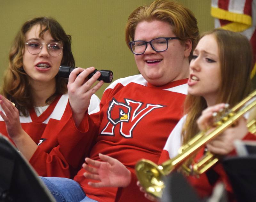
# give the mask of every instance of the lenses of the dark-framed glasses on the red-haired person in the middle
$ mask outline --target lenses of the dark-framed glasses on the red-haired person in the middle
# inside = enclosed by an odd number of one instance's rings
[[[150,42],[148,42],[150,44]],[[151,41],[151,47],[156,51],[164,51],[167,49],[167,40],[165,38],[157,38]],[[131,45],[132,51],[135,54],[144,53],[147,48],[147,42],[145,41],[135,41]]]

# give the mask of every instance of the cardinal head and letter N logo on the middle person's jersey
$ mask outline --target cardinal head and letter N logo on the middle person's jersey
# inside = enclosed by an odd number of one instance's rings
[[[125,103],[121,103],[116,101],[115,98],[110,101],[107,112],[108,123],[102,129],[100,135],[114,136],[114,129],[118,127],[122,136],[131,138],[132,130],[144,116],[156,108],[164,107],[162,105],[143,104],[126,98],[124,101]]]

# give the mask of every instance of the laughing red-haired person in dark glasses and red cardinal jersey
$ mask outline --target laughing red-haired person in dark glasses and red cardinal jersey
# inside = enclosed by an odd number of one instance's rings
[[[110,84],[103,93],[99,113],[89,115],[88,105],[81,103],[89,103],[101,83],[91,88],[93,80],[83,83],[88,72],[80,68],[71,72],[68,94],[72,117],[58,137],[62,139],[68,131],[76,138],[63,155],[70,163],[76,161],[74,156],[84,155],[81,147],[97,162],[99,153],[107,154],[129,169],[126,174],[132,173],[132,181],[126,189],[92,187],[83,168],[74,180],[42,178],[57,201],[147,200],[136,185],[134,166],[141,158],[157,163],[170,132],[182,117],[189,60],[198,36],[196,18],[179,3],[155,0],[137,8],[126,25],[126,43],[140,74]]]

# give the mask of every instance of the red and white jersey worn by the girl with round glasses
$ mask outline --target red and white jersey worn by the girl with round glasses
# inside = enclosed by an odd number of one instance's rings
[[[99,111],[99,103],[100,99],[96,95],[93,95],[88,112]],[[34,108],[29,111],[28,116],[20,116],[22,128],[35,143],[38,144],[38,148],[30,159],[30,163],[40,176],[60,176],[69,178],[74,175],[70,175],[70,167],[64,157],[62,158],[57,139],[58,132],[64,126],[61,122],[61,118],[66,117],[68,113],[66,110],[67,104],[68,94],[65,94],[56,97],[48,108],[38,117]],[[0,110],[2,111],[1,107]],[[68,117],[69,115],[70,114],[68,114]],[[8,137],[5,122],[1,116],[0,133]],[[77,168],[71,168],[72,173],[76,172],[75,170],[77,171]]]

